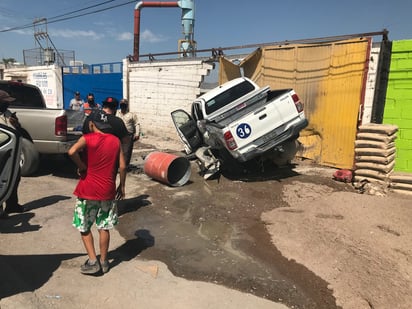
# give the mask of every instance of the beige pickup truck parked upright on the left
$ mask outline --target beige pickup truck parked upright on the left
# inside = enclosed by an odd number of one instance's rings
[[[83,112],[47,108],[42,92],[31,84],[1,80],[0,89],[16,98],[10,103],[9,110],[16,113],[27,131],[22,140],[22,176],[29,176],[37,170],[39,155],[65,154],[81,136],[81,132],[72,128],[81,127]]]

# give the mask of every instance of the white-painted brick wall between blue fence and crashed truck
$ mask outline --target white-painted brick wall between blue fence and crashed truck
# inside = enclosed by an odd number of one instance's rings
[[[139,116],[140,131],[178,140],[170,113],[190,112],[200,84],[213,66],[202,60],[123,63],[123,94]]]

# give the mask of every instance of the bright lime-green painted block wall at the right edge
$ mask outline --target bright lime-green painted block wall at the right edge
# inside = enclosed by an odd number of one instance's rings
[[[392,44],[383,123],[399,127],[395,171],[412,173],[412,40]]]

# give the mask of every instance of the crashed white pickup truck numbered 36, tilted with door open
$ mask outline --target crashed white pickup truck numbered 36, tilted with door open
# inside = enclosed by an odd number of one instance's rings
[[[238,162],[278,156],[308,125],[294,90],[260,88],[246,77],[197,98],[191,115],[181,109],[171,115],[186,153],[196,154],[206,177],[225,164],[228,154]]]

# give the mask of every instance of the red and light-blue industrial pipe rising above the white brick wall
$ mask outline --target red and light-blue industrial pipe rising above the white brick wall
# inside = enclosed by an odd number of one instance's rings
[[[140,9],[143,7],[181,7],[184,40],[181,40],[180,49],[184,52],[194,52],[194,0],[180,1],[140,1],[134,8],[134,43],[133,60],[139,61],[140,49]]]

